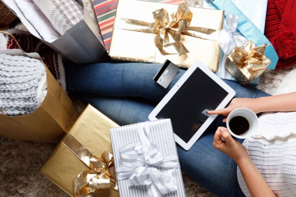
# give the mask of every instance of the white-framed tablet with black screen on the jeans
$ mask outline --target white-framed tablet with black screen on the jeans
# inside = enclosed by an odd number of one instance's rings
[[[235,91],[223,80],[195,62],[149,114],[149,120],[170,118],[175,141],[189,150],[217,115],[207,111],[222,109]]]

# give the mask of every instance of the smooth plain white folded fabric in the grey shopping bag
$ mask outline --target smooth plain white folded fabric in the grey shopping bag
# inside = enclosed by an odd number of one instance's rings
[[[43,40],[53,42],[61,36],[32,0],[15,0],[15,2]]]

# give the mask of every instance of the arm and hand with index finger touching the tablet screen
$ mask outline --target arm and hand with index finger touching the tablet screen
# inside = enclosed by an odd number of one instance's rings
[[[237,108],[251,109],[255,114],[260,112],[295,112],[296,111],[296,92],[281,94],[277,96],[266,96],[256,99],[234,98],[228,107],[208,111],[208,114],[222,114],[225,117]],[[223,120],[226,122],[226,118]]]

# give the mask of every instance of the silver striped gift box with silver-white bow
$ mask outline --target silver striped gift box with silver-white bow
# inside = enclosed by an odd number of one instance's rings
[[[120,197],[185,197],[170,119],[110,129]]]

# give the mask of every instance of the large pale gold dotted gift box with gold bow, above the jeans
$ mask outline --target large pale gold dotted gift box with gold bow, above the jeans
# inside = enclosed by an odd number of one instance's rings
[[[119,0],[109,56],[188,68],[200,60],[218,70],[224,11],[138,0]]]

